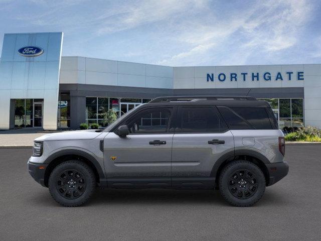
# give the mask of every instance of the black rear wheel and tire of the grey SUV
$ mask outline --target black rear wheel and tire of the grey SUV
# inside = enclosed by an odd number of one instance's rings
[[[222,170],[219,189],[226,201],[233,206],[248,207],[259,201],[265,191],[262,170],[249,161],[233,161]]]

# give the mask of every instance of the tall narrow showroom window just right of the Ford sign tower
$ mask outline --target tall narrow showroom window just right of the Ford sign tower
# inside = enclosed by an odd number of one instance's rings
[[[70,128],[69,93],[59,93],[57,126],[58,128]]]

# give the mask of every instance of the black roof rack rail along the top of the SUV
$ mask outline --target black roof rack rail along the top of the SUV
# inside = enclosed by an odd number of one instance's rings
[[[207,96],[207,95],[198,95],[198,96],[165,96],[157,97],[149,101],[149,103],[157,102],[170,102],[170,101],[189,101],[194,99],[245,99],[245,100],[256,100],[254,97],[250,96]]]

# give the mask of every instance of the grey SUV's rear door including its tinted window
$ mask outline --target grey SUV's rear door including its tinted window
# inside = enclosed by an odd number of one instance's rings
[[[234,139],[215,106],[178,108],[172,149],[173,187],[212,187],[215,162],[234,152]]]

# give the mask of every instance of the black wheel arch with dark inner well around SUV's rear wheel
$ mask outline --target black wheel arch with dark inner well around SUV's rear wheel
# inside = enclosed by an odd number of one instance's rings
[[[223,168],[231,161],[234,160],[245,160],[254,163],[257,165],[263,172],[266,186],[269,185],[270,174],[268,168],[265,164],[269,164],[270,161],[261,153],[252,151],[252,150],[235,150],[229,153],[224,154],[221,158],[219,158],[211,172],[211,176],[215,177],[215,182],[217,183],[219,180],[219,176],[223,170]]]

